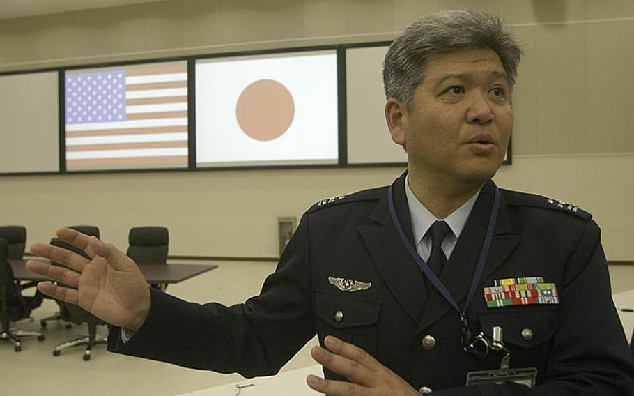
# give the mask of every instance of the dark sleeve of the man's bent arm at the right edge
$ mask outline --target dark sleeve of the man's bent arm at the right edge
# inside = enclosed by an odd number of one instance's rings
[[[634,395],[634,363],[612,302],[600,230],[593,220],[586,222],[565,271],[544,383],[534,388],[515,383],[460,387],[433,395]]]

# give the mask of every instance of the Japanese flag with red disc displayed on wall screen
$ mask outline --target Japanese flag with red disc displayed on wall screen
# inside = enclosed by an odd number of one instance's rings
[[[201,166],[337,163],[334,51],[196,62]]]

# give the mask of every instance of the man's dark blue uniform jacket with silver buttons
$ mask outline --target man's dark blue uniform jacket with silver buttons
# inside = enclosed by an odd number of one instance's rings
[[[405,175],[394,183],[396,211],[412,238]],[[440,276],[462,305],[477,264],[495,185],[477,199]],[[152,290],[144,326],[123,344],[112,328],[109,349],[186,367],[275,374],[315,334],[357,344],[416,389],[434,395],[634,395],[634,364],[610,295],[600,230],[591,215],[546,197],[501,190],[495,235],[471,306],[474,332],[503,330],[511,367],[536,367],[537,386],[465,387],[467,372],[500,367],[500,353],[481,359],[459,342],[461,321],[438,291],[429,292],[389,216],[387,188],[318,202],[304,213],[277,270],[244,304],[199,305]],[[340,291],[328,277],[371,282]],[[557,305],[488,308],[495,280],[543,277]],[[239,282],[239,280],[236,280]],[[341,311],[337,320],[336,313]],[[526,339],[523,330],[532,330]],[[524,335],[526,332],[524,333]],[[422,338],[435,339],[433,349]],[[329,378],[338,378],[325,372]]]

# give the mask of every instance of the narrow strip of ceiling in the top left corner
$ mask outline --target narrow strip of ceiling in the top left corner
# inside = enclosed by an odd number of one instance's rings
[[[0,0],[0,20],[153,1],[157,0]]]

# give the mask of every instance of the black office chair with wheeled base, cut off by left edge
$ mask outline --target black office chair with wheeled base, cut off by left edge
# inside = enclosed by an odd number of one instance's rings
[[[38,341],[44,340],[44,335],[36,331],[12,330],[10,323],[26,319],[31,311],[42,305],[43,295],[37,291],[35,296],[22,296],[22,288],[13,277],[13,270],[8,262],[8,243],[0,238],[0,321],[2,331],[0,340],[13,342],[16,352],[22,351],[22,337],[38,337]]]

